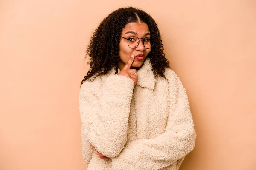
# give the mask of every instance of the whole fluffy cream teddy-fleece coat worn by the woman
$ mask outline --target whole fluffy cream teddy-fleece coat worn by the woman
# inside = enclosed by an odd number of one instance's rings
[[[149,58],[137,74],[136,86],[114,69],[81,86],[82,155],[88,170],[178,170],[193,150],[194,123],[177,74],[166,68],[167,80],[154,77]],[[100,159],[95,150],[110,159]]]

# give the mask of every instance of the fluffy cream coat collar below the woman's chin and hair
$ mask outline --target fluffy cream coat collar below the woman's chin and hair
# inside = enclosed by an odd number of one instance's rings
[[[121,70],[118,69],[118,73]],[[109,74],[115,74],[115,69],[113,68]],[[146,58],[141,68],[137,71],[137,85],[154,90],[157,79],[154,77],[152,71],[152,66],[149,58]]]

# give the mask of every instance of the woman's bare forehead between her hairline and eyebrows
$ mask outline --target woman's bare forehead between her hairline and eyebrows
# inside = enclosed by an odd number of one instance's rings
[[[150,33],[148,25],[145,23],[128,23],[122,30],[122,34],[125,34],[127,31],[133,31],[137,34]]]

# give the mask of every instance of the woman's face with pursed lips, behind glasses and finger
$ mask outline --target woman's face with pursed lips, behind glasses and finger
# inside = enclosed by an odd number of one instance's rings
[[[123,28],[122,37],[129,38],[129,37],[138,37],[138,38],[146,38],[150,37],[150,31],[148,28],[148,25],[145,23],[128,23]],[[147,49],[143,45],[143,39],[140,39],[139,45],[132,49],[128,46],[126,39],[120,37],[120,43],[119,43],[119,56],[120,60],[118,63],[118,67],[120,70],[125,66],[126,62],[130,59],[131,55],[134,54],[135,59],[134,62],[131,65],[131,69],[139,69],[140,66],[143,64],[145,58],[151,51],[151,48]],[[130,39],[131,41],[132,39]],[[136,43],[136,42],[135,42]],[[146,44],[147,42],[145,42]]]

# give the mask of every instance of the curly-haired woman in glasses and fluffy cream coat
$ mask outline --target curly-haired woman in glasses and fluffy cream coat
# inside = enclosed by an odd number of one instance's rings
[[[87,55],[79,110],[88,170],[178,170],[196,133],[153,18],[133,7],[113,11]]]

